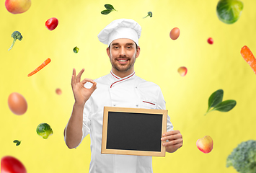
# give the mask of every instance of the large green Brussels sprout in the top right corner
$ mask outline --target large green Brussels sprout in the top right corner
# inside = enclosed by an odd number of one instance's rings
[[[233,24],[242,14],[243,7],[244,4],[239,0],[220,0],[216,8],[217,16],[221,22]]]

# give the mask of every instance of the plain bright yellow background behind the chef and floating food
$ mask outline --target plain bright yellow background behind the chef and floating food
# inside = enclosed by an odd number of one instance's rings
[[[161,86],[171,121],[184,139],[174,154],[153,158],[154,172],[235,173],[233,167],[226,168],[226,157],[242,141],[256,139],[256,76],[240,55],[244,45],[256,54],[256,1],[242,1],[241,17],[226,25],[216,15],[217,0],[32,0],[23,14],[9,13],[2,0],[0,157],[17,157],[29,173],[89,171],[89,136],[71,150],[63,141],[63,129],[74,104],[72,68],[85,68],[82,79],[108,74],[107,46],[97,35],[112,20],[130,18],[142,27],[136,75]],[[104,4],[112,4],[118,12],[100,14]],[[149,11],[153,17],[142,19]],[[50,17],[59,21],[53,31],[45,27]],[[173,27],[180,28],[177,40],[169,38]],[[17,40],[8,51],[15,30],[22,33],[23,40]],[[207,43],[208,37],[213,38],[213,45]],[[79,53],[73,52],[75,46]],[[48,66],[27,77],[46,58],[52,60]],[[180,66],[188,69],[184,77],[177,72]],[[61,95],[56,94],[57,88]],[[204,116],[208,97],[217,89],[224,90],[224,100],[235,99],[237,106],[230,112]],[[24,115],[9,110],[7,99],[12,92],[27,100]],[[47,140],[37,136],[40,123],[48,123],[53,136]],[[209,154],[195,145],[206,135],[213,138]],[[22,140],[20,146],[12,142],[15,139]]]

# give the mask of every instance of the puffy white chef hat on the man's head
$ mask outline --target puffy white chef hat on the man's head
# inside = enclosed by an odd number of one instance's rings
[[[138,45],[139,37],[141,37],[141,26],[133,19],[116,19],[98,35],[100,42],[106,45],[110,45],[118,38],[129,38]]]

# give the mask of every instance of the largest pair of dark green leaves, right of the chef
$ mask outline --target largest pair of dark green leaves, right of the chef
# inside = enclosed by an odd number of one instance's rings
[[[224,91],[222,89],[219,89],[211,94],[208,99],[208,110],[206,111],[206,114],[213,110],[218,110],[220,112],[229,112],[229,110],[233,109],[237,105],[237,102],[234,99],[228,99],[222,102],[223,94]],[[213,107],[213,109],[211,109],[211,107]]]

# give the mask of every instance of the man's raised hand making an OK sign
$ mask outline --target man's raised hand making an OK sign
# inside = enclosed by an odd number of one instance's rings
[[[91,97],[92,92],[94,92],[94,90],[96,89],[96,84],[97,84],[92,79],[87,79],[87,78],[80,81],[81,74],[83,74],[83,72],[84,72],[84,68],[81,69],[79,74],[76,76],[76,69],[73,68],[73,75],[71,79],[71,86],[72,86],[73,94],[75,97],[75,104],[82,105],[82,106],[84,106],[85,102],[87,102],[89,97]],[[84,84],[87,82],[91,82],[93,84],[90,89],[87,89],[84,87]]]

